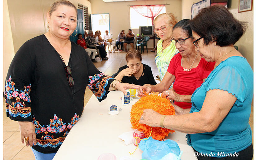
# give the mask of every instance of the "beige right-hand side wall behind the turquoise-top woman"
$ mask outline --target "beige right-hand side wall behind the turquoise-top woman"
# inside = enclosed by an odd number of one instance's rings
[[[191,6],[193,2],[199,1],[200,0],[182,0],[182,19],[191,18]],[[238,0],[232,0],[231,7],[228,10],[233,13],[237,20],[248,22],[248,28],[245,34],[235,45],[238,46],[238,51],[247,59],[253,69],[253,10],[238,13]]]

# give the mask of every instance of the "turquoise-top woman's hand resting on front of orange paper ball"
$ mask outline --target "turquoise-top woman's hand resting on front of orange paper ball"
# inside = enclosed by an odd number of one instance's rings
[[[145,109],[141,115],[139,123],[146,124],[151,127],[160,127],[162,114],[155,112],[153,109]]]

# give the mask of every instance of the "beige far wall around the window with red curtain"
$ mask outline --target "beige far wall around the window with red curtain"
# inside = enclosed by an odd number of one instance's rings
[[[109,13],[110,16],[110,33],[113,38],[117,38],[122,29],[128,33],[130,29],[130,6],[133,5],[166,5],[166,12],[173,13],[177,20],[181,20],[181,1],[180,0],[153,0],[153,1],[129,1],[129,2],[103,2],[102,0],[92,0],[92,14]],[[139,33],[139,29],[132,29],[135,35]],[[103,34],[103,33],[102,33]],[[157,40],[156,40],[157,42]],[[155,42],[155,43],[156,43]],[[153,40],[149,40],[147,46],[153,48]]]

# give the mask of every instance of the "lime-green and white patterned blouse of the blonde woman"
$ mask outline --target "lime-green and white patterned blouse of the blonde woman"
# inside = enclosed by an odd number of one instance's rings
[[[167,72],[171,59],[173,58],[174,55],[176,55],[179,52],[173,43],[166,47],[162,52],[162,44],[163,40],[160,39],[157,42],[157,55],[155,57],[155,64],[159,71],[159,77],[161,81],[163,80],[164,75]]]

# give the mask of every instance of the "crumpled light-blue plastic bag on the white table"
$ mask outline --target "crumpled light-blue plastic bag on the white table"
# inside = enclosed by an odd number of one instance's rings
[[[173,140],[159,141],[154,140],[152,137],[147,140],[144,139],[139,143],[139,148],[143,151],[141,154],[142,159],[161,160],[168,153],[174,153],[177,157],[180,157],[181,151],[177,142]]]

